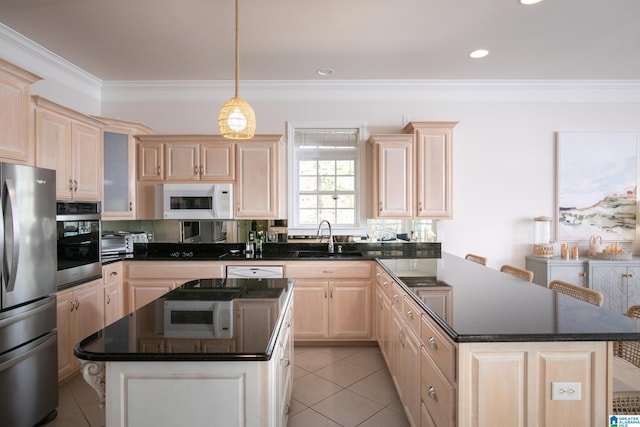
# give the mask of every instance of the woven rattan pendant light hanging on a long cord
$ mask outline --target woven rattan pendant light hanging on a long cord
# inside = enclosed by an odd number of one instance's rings
[[[239,0],[236,0],[236,92],[220,109],[218,126],[220,133],[229,139],[251,139],[256,133],[256,115],[251,105],[240,98],[238,82],[240,80],[240,43],[239,43]]]

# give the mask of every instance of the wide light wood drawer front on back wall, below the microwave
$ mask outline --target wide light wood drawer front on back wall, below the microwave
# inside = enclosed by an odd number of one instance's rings
[[[127,264],[129,279],[199,279],[224,277],[224,264],[215,261],[138,261]]]

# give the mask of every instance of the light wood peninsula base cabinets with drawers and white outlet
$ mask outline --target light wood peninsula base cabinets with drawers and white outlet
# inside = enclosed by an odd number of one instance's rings
[[[411,426],[596,427],[608,419],[611,343],[457,343],[404,287],[380,269],[376,278],[382,302],[375,310],[382,316],[375,322],[377,338]],[[387,280],[392,280],[390,321],[384,317]],[[384,347],[385,322],[390,353]],[[580,383],[581,399],[553,399],[557,382]]]

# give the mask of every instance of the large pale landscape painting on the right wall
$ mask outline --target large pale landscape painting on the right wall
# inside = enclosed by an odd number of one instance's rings
[[[558,241],[636,239],[637,135],[558,132]]]

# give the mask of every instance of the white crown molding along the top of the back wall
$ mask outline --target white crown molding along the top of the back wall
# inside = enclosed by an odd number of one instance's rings
[[[103,101],[207,101],[229,81],[105,81]],[[243,98],[413,102],[640,102],[640,80],[247,80]]]

